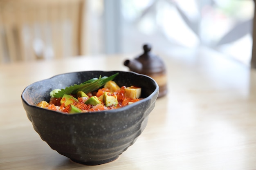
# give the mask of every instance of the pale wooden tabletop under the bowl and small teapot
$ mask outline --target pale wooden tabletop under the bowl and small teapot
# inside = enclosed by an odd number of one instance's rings
[[[128,71],[123,62],[133,57],[0,65],[0,170],[256,169],[256,70],[208,49],[161,56],[168,94],[157,99],[146,129],[116,161],[84,166],[40,139],[21,103],[27,85],[73,71]]]

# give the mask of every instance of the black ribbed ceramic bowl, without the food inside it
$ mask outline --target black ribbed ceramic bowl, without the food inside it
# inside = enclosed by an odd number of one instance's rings
[[[117,72],[119,75],[114,81],[119,86],[141,87],[141,97],[144,99],[115,110],[70,115],[36,106],[42,100],[49,101],[49,93],[53,89]],[[157,83],[146,75],[122,71],[85,71],[35,82],[25,88],[21,98],[34,130],[53,150],[75,162],[98,165],[117,159],[134,144],[146,127],[158,92]]]

